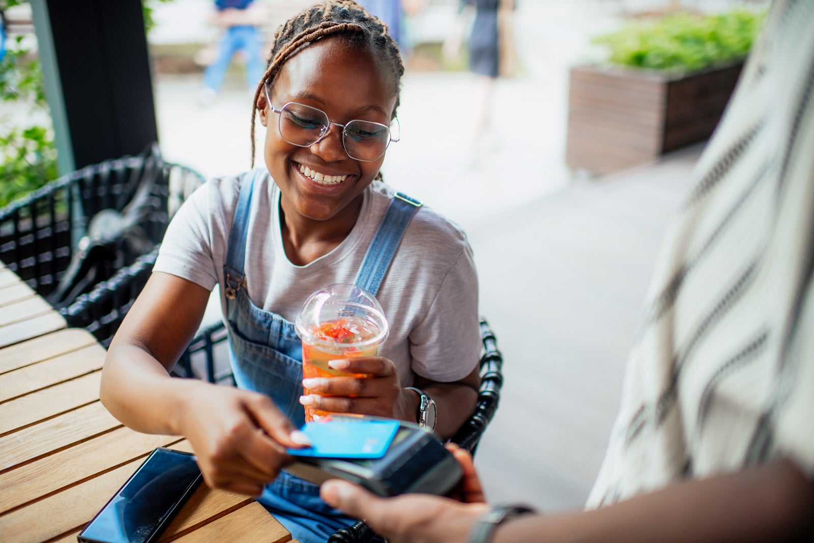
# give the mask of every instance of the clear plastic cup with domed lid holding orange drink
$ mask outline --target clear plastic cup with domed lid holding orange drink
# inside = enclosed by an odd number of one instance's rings
[[[305,300],[295,321],[303,342],[303,375],[312,377],[353,376],[328,367],[328,361],[341,358],[375,357],[379,344],[387,339],[387,318],[375,296],[357,285],[336,283],[322,288]],[[305,394],[311,394],[304,388]],[[305,422],[328,415],[305,406]]]

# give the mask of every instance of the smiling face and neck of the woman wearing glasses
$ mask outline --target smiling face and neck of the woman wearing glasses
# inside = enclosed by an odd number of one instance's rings
[[[369,50],[348,46],[338,37],[326,37],[292,57],[278,73],[268,95],[272,102],[278,100],[287,106],[291,102],[309,102],[312,109],[324,107],[345,125],[383,125],[381,121],[391,118],[396,101],[383,81]],[[309,258],[313,260],[322,256],[319,252],[332,250],[350,233],[361,206],[361,193],[379,174],[384,149],[374,148],[365,160],[352,158],[344,143],[347,129],[335,125],[320,129],[322,135],[309,147],[292,143],[285,137],[292,131],[288,116],[280,116],[279,125],[269,123],[269,100],[261,95],[258,103],[263,107],[260,122],[267,127],[265,163],[282,193],[285,226],[294,233],[286,247],[287,256],[307,264]],[[361,116],[365,119],[357,120]],[[357,151],[357,147],[352,149]],[[381,151],[379,156],[375,156],[376,151]],[[300,172],[301,167],[316,174],[306,176]],[[326,182],[326,177],[343,177],[343,181]],[[337,234],[342,234],[341,239]],[[319,247],[316,250],[315,244]]]

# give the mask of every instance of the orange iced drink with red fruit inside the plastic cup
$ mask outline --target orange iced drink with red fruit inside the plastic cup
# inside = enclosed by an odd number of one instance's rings
[[[368,374],[351,374],[328,367],[328,361],[339,358],[375,357],[379,353],[379,343],[370,344],[370,339],[379,335],[379,328],[373,322],[358,317],[340,318],[324,322],[311,330],[314,344],[303,341],[303,376],[310,377],[369,377]],[[330,345],[333,343],[333,345]],[[360,345],[361,346],[357,346]],[[305,394],[312,392],[304,388]],[[322,417],[327,411],[305,406],[305,422],[313,421],[314,415]]]

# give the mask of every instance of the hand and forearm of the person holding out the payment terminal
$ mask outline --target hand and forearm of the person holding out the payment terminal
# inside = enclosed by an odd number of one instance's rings
[[[380,498],[339,480],[324,484],[322,497],[348,515],[364,518],[392,543],[464,543],[484,511],[482,503],[421,494]],[[525,515],[497,528],[492,541],[812,541],[812,510],[814,481],[793,462],[780,459],[729,475],[672,484],[598,510]]]

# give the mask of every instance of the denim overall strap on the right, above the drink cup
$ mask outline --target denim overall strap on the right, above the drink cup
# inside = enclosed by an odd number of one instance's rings
[[[365,260],[361,263],[361,269],[354,281],[359,287],[376,296],[384,274],[387,274],[393,255],[396,254],[401,238],[407,230],[407,225],[421,206],[422,203],[417,199],[396,192],[390,200],[379,230],[376,230],[373,241],[370,242]]]

